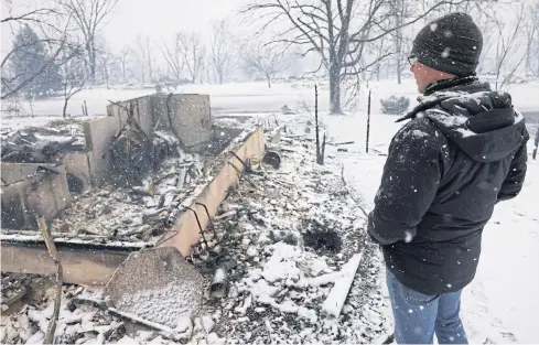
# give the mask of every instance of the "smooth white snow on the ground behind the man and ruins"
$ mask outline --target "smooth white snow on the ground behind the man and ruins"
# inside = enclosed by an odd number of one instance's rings
[[[373,89],[373,116],[369,153],[365,153],[366,93],[363,91],[363,101],[354,115],[330,116],[326,112],[327,90],[320,91],[321,117],[330,134],[330,141],[333,143],[354,141],[353,144],[328,145],[327,155],[334,155],[344,164],[344,177],[348,187],[367,211],[373,206],[389,142],[401,126],[401,123],[395,123],[397,117],[379,112],[379,99],[390,95],[406,95],[410,97],[413,106],[417,97],[414,83],[410,79],[405,80],[402,85],[385,80],[373,83],[370,87]],[[302,110],[302,105],[305,103],[312,111],[313,90],[308,85],[276,84],[271,89],[263,84],[192,85],[181,86],[177,91],[209,94],[212,111],[214,116],[222,116],[222,120],[229,120],[223,116],[248,116],[254,112],[262,116],[279,112],[283,105],[288,105],[302,114],[279,115],[281,123],[304,130],[306,121],[312,121],[312,116]],[[539,100],[533,97],[539,93],[539,83],[511,85],[509,91],[518,109],[539,111]],[[103,114],[107,99],[128,99],[149,93],[153,90],[85,90],[74,97],[73,110],[69,111],[78,114],[80,103],[87,100],[89,114]],[[51,114],[58,109],[61,101],[56,99],[35,103],[34,112]],[[231,119],[231,121],[241,122],[238,119]],[[2,127],[8,122],[9,120],[4,121],[2,118]],[[531,132],[535,130],[536,128],[530,127]],[[531,149],[531,142],[529,148]],[[347,151],[337,151],[337,149]],[[462,316],[473,343],[485,341],[533,343],[539,338],[539,330],[535,325],[537,310],[539,310],[537,294],[539,276],[533,273],[539,262],[538,197],[539,162],[530,161],[522,193],[517,198],[496,206],[493,219],[484,230],[483,254],[476,279],[463,294]],[[358,218],[360,217],[362,215],[358,214]],[[382,295],[387,295],[384,270],[380,270],[381,263],[379,259],[376,259],[376,255],[371,260],[374,271],[378,272],[376,281],[379,290]],[[358,293],[357,289],[355,293]],[[365,297],[359,300],[363,299]],[[377,311],[376,316],[385,323],[382,328],[390,327],[390,311],[387,304],[387,301],[379,304],[380,310]],[[245,304],[242,306],[245,308]],[[376,319],[369,313],[366,313],[364,317]]]

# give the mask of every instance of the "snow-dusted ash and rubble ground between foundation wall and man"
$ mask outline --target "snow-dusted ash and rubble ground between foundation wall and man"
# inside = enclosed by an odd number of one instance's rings
[[[203,244],[193,250],[208,284],[219,260],[235,262],[226,298],[206,295],[213,331],[227,344],[384,339],[381,258],[366,237],[366,219],[342,181],[339,162],[330,155],[317,165],[309,138],[284,137],[280,149],[280,170],[260,166],[262,175],[246,175],[252,183],[242,181],[228,194],[214,220],[220,241],[209,241],[209,255]],[[342,266],[359,251],[364,257],[341,316],[328,316],[322,304]]]

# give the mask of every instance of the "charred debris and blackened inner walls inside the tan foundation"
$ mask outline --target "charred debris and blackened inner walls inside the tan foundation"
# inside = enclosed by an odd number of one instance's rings
[[[204,95],[145,96],[84,122],[2,132],[2,230],[33,230],[44,217],[63,233],[159,236],[133,227],[168,217],[163,211],[236,133],[213,127]],[[110,194],[120,205],[101,196]],[[123,211],[123,226],[110,227],[109,209]]]

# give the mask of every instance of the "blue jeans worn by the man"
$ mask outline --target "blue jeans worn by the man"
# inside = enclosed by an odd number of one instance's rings
[[[397,344],[467,344],[459,312],[461,291],[427,295],[401,284],[387,269]]]

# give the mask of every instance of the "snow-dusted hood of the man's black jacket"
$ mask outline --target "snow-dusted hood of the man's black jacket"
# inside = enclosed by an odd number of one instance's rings
[[[525,120],[504,91],[477,80],[419,97],[408,117],[422,114],[473,160],[498,161],[527,140]]]

